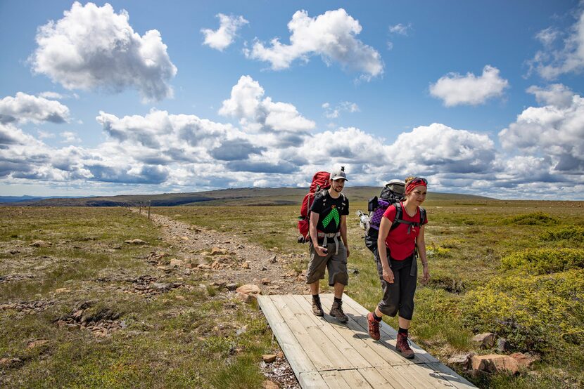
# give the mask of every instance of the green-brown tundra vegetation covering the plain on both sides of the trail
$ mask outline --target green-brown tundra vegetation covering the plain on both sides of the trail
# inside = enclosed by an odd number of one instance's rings
[[[307,253],[296,243],[298,205],[204,204],[153,212],[231,232],[276,253]],[[465,375],[481,388],[581,388],[584,203],[429,196],[424,206],[431,280],[417,291],[414,341],[443,362],[465,352],[540,357],[516,376]],[[366,202],[351,202],[352,271],[345,293],[373,309],[381,296],[379,276],[357,209],[367,209]],[[1,211],[1,386],[261,385],[261,355],[274,350],[274,341],[257,308],[202,287],[196,272],[179,277],[148,264],[153,249],[170,258],[174,248],[158,239],[144,216],[120,208]],[[124,244],[133,238],[148,247]],[[53,245],[30,246],[39,239]],[[302,258],[291,268],[303,270],[307,255]],[[136,285],[144,275],[169,287],[144,294]],[[331,292],[326,283],[321,287]],[[15,309],[17,303],[26,309]],[[113,329],[100,336],[99,328],[80,328],[81,320]],[[397,327],[396,319],[384,320]],[[486,331],[507,339],[507,350],[471,341]]]

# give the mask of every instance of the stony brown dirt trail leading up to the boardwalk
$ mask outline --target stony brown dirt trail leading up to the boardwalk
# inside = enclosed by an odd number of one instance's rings
[[[166,216],[151,214],[151,220],[160,227],[163,239],[180,253],[171,261],[171,266],[184,268],[187,273],[199,272],[199,276],[221,289],[233,290],[237,285],[254,284],[260,287],[262,294],[307,294],[310,291],[304,283],[303,272],[291,266],[305,259],[303,256],[268,251],[234,235],[188,225]],[[161,256],[163,253],[153,253],[149,261],[160,260]],[[267,379],[281,388],[300,388],[284,353],[274,350],[274,355],[277,357],[273,362],[260,362]],[[271,359],[265,357],[265,361]],[[265,383],[266,387],[269,385]]]

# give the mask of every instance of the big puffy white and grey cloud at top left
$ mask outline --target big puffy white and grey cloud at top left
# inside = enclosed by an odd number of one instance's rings
[[[39,27],[34,72],[68,89],[120,92],[137,88],[144,101],[172,96],[168,81],[177,73],[160,32],[143,36],[129,25],[126,11],[73,3],[62,19]]]

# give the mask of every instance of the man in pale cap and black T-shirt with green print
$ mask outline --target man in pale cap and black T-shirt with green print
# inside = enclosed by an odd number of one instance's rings
[[[349,199],[341,193],[347,176],[345,168],[331,173],[329,190],[315,196],[310,207],[310,262],[306,272],[306,284],[312,293],[312,312],[323,316],[319,297],[319,279],[324,279],[325,268],[329,271],[329,286],[334,286],[334,303],[330,315],[345,323],[348,317],[343,312],[341,298],[348,284],[347,215]],[[341,237],[341,239],[338,239]]]

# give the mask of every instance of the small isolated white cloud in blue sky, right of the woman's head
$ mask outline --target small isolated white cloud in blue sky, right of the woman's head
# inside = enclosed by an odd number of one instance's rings
[[[466,76],[449,73],[440,77],[436,84],[431,84],[430,93],[442,99],[446,107],[479,105],[501,96],[508,86],[509,81],[500,77],[496,67],[486,65],[479,77],[470,72]]]

